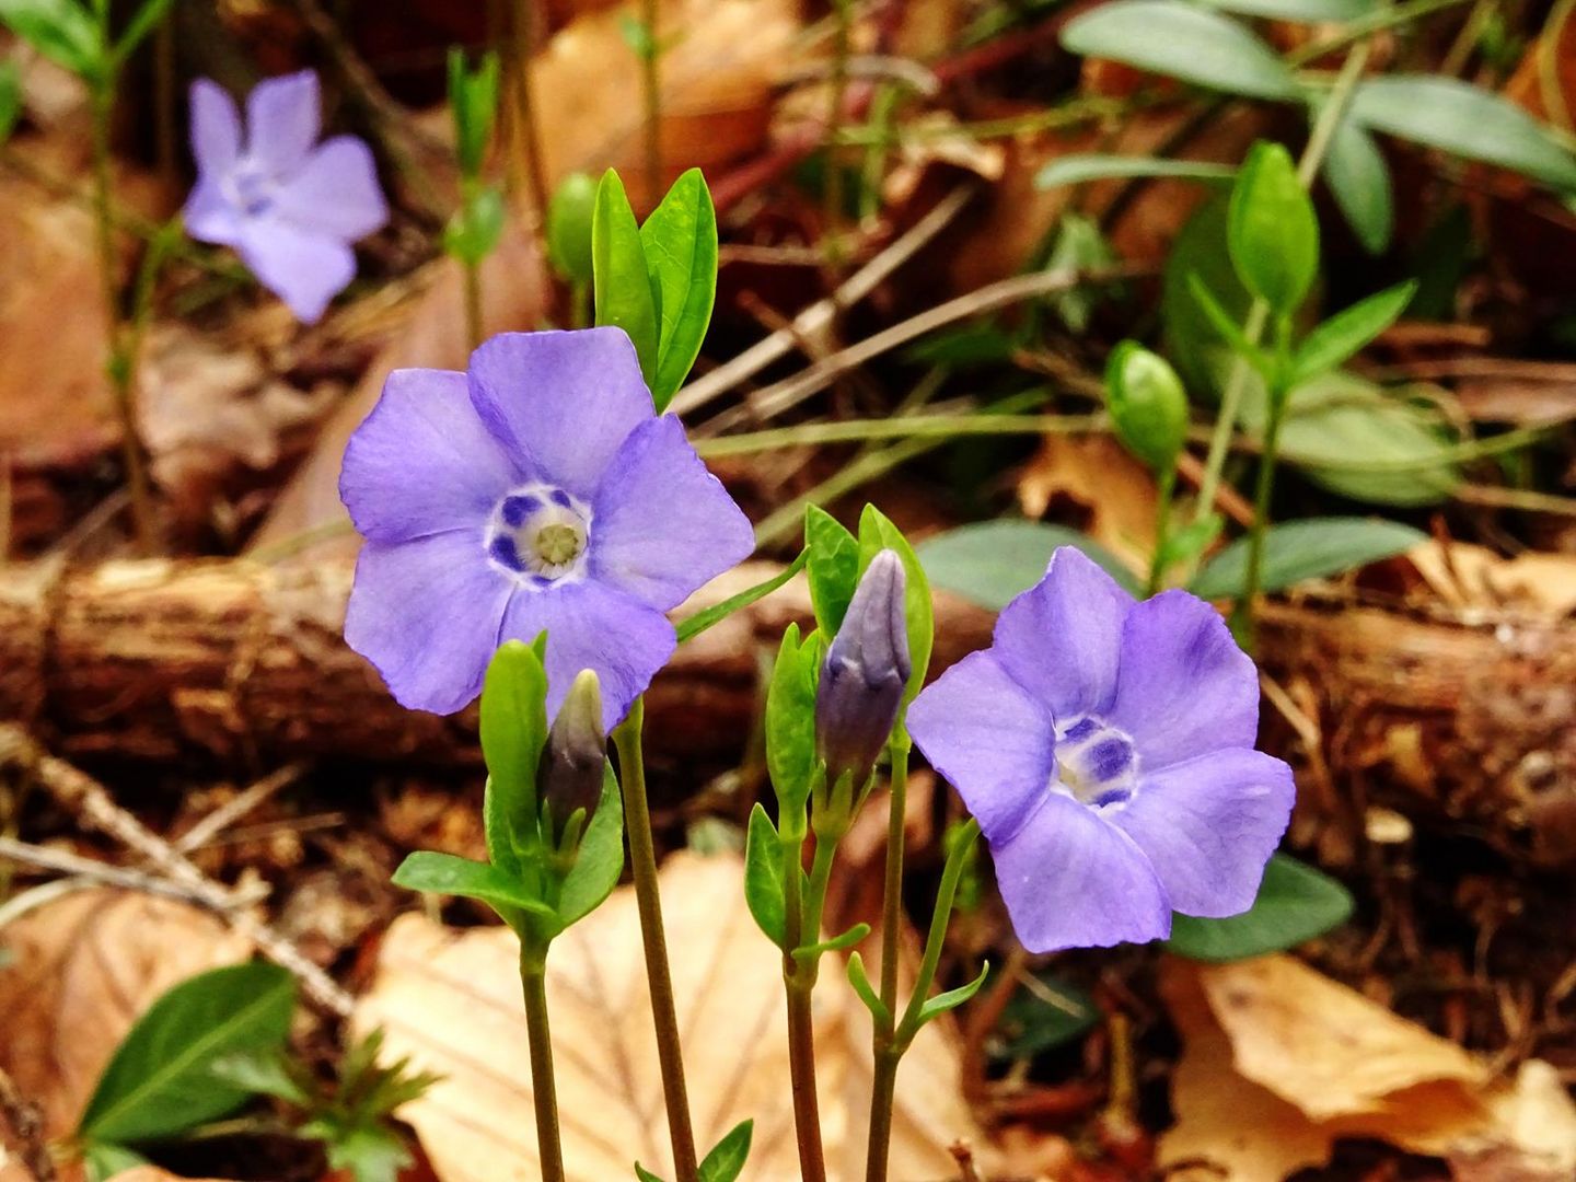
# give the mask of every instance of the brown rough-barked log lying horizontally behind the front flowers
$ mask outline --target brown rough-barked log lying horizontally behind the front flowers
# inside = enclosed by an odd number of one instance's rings
[[[687,610],[771,571],[747,564]],[[3,569],[0,720],[68,758],[474,763],[473,714],[402,709],[344,646],[350,577],[340,556]],[[807,616],[802,583],[790,583],[686,645],[648,697],[656,752],[736,756],[768,654]],[[933,671],[987,643],[990,623],[939,596]],[[1357,777],[1366,799],[1407,816],[1576,864],[1576,626],[1300,600],[1266,607],[1261,649],[1314,723],[1311,755],[1273,723],[1270,739],[1299,766],[1310,807],[1340,812]]]

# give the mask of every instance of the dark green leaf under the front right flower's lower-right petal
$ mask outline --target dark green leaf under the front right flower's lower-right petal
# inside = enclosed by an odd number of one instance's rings
[[[1248,911],[1231,919],[1174,916],[1166,947],[1191,960],[1247,960],[1322,936],[1351,914],[1346,887],[1294,857],[1275,854]]]

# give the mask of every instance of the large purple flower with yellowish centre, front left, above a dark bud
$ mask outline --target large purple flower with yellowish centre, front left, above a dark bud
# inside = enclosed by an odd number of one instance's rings
[[[548,714],[589,668],[611,730],[673,654],[665,611],[755,548],[619,328],[503,333],[465,374],[394,370],[339,495],[366,537],[345,640],[435,714],[476,698],[498,645],[545,630]]]

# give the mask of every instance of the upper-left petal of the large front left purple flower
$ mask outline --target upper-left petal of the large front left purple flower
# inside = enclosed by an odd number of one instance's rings
[[[444,530],[479,533],[517,482],[476,418],[463,374],[396,369],[345,444],[339,498],[367,539],[403,542]]]

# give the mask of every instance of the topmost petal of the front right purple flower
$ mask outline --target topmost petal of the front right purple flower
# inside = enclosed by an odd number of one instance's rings
[[[994,652],[1057,719],[1105,711],[1116,695],[1122,621],[1133,597],[1083,552],[1064,545],[1045,578],[1002,608]]]

